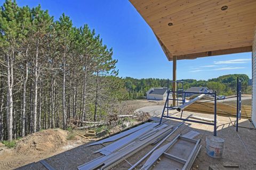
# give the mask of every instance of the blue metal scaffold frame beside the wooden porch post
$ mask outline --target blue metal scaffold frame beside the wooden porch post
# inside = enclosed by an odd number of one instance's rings
[[[217,136],[217,94],[216,94],[216,91],[214,93],[198,93],[198,92],[186,92],[184,91],[183,87],[184,87],[184,84],[182,81],[171,81],[172,83],[181,83],[182,84],[182,90],[178,90],[178,91],[171,91],[169,90],[169,79],[167,79],[167,97],[166,97],[166,101],[165,101],[165,104],[164,104],[164,109],[163,109],[163,112],[162,112],[162,116],[161,116],[161,119],[160,119],[160,122],[159,124],[162,123],[162,119],[163,117],[164,118],[170,118],[170,119],[177,119],[177,120],[183,120],[185,122],[194,122],[194,123],[201,123],[201,124],[206,124],[206,125],[213,125],[214,126],[214,129],[213,129],[213,135],[214,136]],[[177,85],[178,86],[178,85]],[[179,87],[179,86],[178,86]],[[170,99],[169,96],[170,94],[177,94],[177,98],[176,99]],[[182,101],[182,104],[181,106],[185,103],[185,98],[186,98],[186,93],[189,93],[189,94],[209,94],[209,95],[213,95],[214,96],[214,123],[210,123],[210,122],[203,122],[203,121],[199,121],[199,120],[191,120],[191,119],[185,119],[185,118],[182,118],[182,112],[181,112],[181,117],[178,118],[178,117],[173,117],[173,116],[169,116],[169,110],[174,110],[174,109],[177,109],[179,107],[179,101]],[[179,99],[179,95],[181,94],[182,96],[182,99]],[[169,107],[169,100],[172,100],[172,101],[177,101],[177,106],[171,106]],[[164,115],[164,112],[165,112],[165,109],[167,108],[167,115]]]

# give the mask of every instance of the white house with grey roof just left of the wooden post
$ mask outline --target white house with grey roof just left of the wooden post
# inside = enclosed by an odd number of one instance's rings
[[[166,87],[156,87],[150,88],[147,92],[147,100],[166,100],[167,98],[167,88]]]

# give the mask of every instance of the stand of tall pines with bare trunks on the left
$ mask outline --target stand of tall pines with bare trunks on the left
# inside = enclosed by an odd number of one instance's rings
[[[0,32],[0,141],[102,119],[125,98],[113,50],[89,26],[6,0]]]

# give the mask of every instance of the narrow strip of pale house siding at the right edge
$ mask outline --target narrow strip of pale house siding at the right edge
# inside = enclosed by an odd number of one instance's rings
[[[256,29],[252,43],[252,122],[256,127]]]

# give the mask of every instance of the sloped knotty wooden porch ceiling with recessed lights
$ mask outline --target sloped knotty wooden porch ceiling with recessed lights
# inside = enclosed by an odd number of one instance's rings
[[[153,29],[169,60],[252,51],[256,0],[130,2]]]

